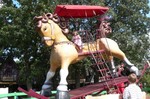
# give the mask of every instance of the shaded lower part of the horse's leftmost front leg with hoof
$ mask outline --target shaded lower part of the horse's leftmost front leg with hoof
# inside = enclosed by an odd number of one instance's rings
[[[51,89],[52,89],[52,81],[51,79],[55,75],[55,72],[53,72],[51,69],[47,72],[46,80],[42,86],[41,95],[44,96],[50,96],[51,95]]]

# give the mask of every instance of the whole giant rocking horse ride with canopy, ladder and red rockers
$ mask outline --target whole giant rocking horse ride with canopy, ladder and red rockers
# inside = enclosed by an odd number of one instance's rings
[[[106,37],[107,34],[112,32],[109,26],[110,23],[107,21],[109,17],[101,18],[101,23],[95,33],[88,30],[77,31],[80,33],[83,42],[81,48],[67,37],[70,32],[68,28],[69,19],[100,17],[105,15],[108,10],[108,7],[91,5],[57,5],[53,14],[47,13],[42,16],[35,16],[36,31],[46,46],[52,48],[50,69],[40,94],[37,94],[32,89],[26,91],[18,88],[18,90],[32,97],[49,99],[52,90],[51,79],[55,75],[57,68],[61,69],[56,99],[85,99],[87,95],[94,92],[100,93],[104,90],[108,94],[121,94],[125,83],[128,82],[126,75],[121,75],[121,72],[124,72],[122,69],[124,67],[127,67],[130,72],[135,72],[138,76],[143,76],[145,70],[150,66],[148,61],[142,72],[139,72],[137,67],[128,60],[125,53],[119,48],[117,42]],[[92,67],[99,73],[99,82],[69,91],[67,76],[70,64],[87,57],[92,59]],[[121,65],[116,70],[113,57],[122,60],[126,65]]]

